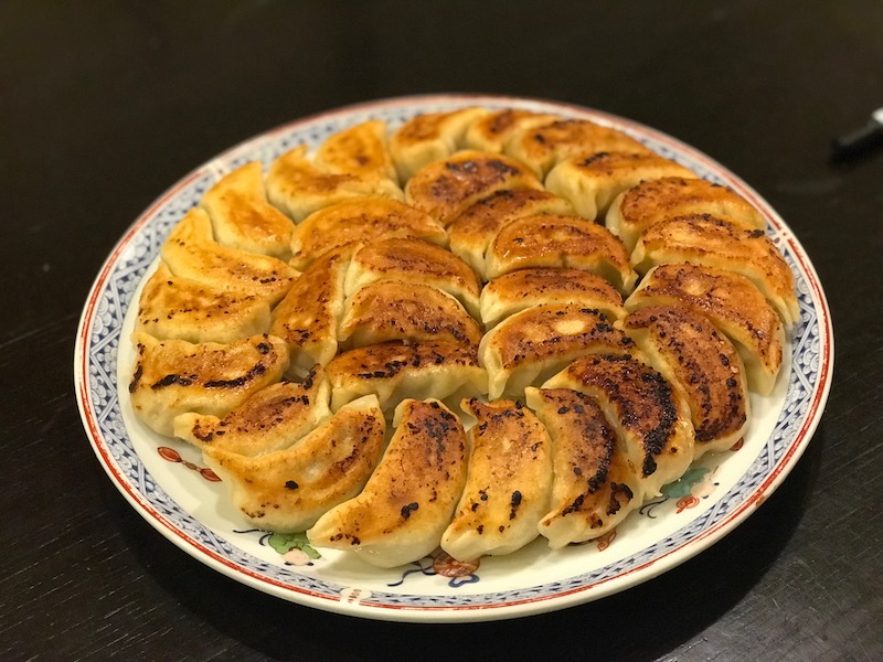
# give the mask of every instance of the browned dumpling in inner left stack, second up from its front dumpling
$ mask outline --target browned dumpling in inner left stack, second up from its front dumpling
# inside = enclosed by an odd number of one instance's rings
[[[457,299],[440,289],[379,280],[347,301],[338,340],[345,349],[387,340],[440,341],[477,348],[481,329]]]

